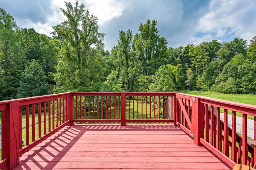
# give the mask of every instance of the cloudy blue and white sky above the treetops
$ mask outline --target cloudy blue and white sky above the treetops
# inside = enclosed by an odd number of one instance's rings
[[[74,5],[76,0],[66,0]],[[156,20],[158,34],[168,47],[256,36],[256,0],[78,0],[98,18],[105,50],[117,44],[119,31],[138,32],[140,24]],[[20,28],[34,28],[51,36],[52,26],[66,18],[64,0],[1,0],[0,8],[13,16]]]

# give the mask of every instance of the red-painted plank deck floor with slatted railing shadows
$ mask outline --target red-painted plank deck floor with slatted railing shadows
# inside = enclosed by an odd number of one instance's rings
[[[20,157],[14,170],[232,169],[178,126],[65,126]]]

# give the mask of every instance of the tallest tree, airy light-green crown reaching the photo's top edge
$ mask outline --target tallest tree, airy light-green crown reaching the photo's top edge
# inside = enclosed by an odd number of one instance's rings
[[[55,92],[90,91],[104,79],[100,52],[104,34],[98,32],[97,18],[84,9],[84,4],[78,6],[76,1],[73,7],[66,2],[66,8],[60,8],[66,20],[53,27],[62,41],[61,58],[54,74]]]

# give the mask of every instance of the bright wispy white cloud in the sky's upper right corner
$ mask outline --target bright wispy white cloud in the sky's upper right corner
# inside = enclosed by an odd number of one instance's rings
[[[217,38],[233,34],[250,40],[256,28],[255,6],[255,0],[212,0],[208,12],[198,21],[197,30],[216,33]]]

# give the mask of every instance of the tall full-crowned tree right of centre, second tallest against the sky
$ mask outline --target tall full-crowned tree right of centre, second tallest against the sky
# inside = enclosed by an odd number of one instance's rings
[[[158,35],[156,20],[140,24],[139,32],[134,36],[133,49],[142,68],[141,73],[153,75],[164,65],[167,58],[167,41]]]

